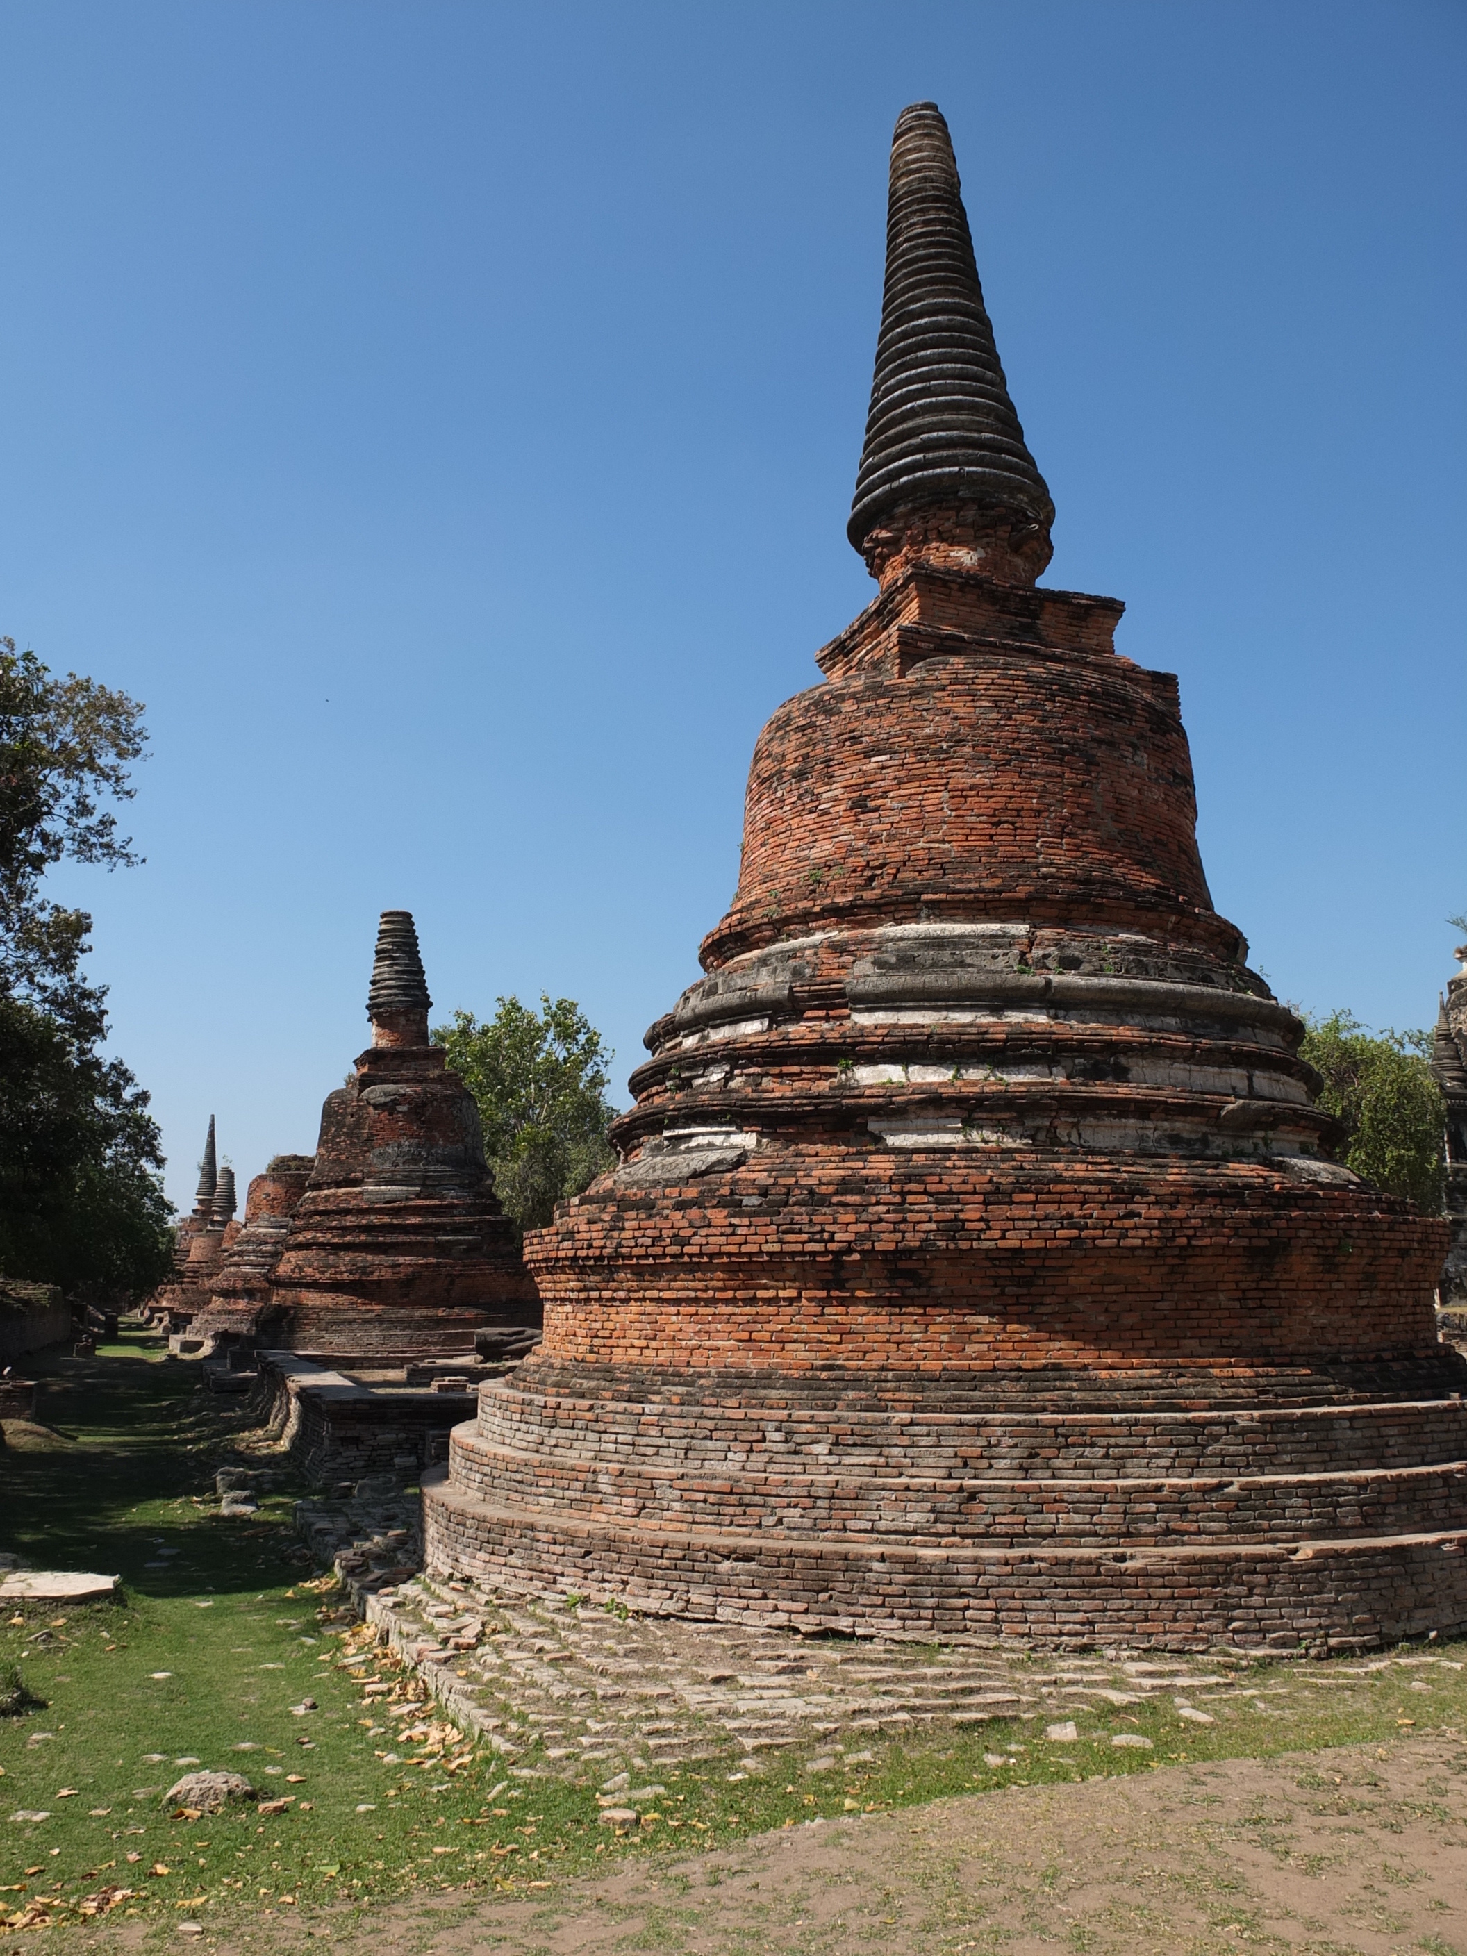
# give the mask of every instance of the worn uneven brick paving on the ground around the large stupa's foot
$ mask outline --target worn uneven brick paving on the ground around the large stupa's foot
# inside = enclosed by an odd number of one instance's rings
[[[1187,1727],[1234,1708],[1267,1713],[1269,1698],[1328,1692],[1395,1661],[1336,1661],[1328,1674],[1301,1665],[1297,1682],[1254,1682],[1279,1651],[1037,1655],[978,1639],[802,1637],[536,1602],[411,1573],[421,1557],[417,1498],[385,1487],[299,1502],[297,1526],[376,1633],[344,1659],[366,1702],[399,1690],[401,1672],[379,1670],[391,1651],[511,1776],[573,1780],[591,1770],[600,1784],[626,1774],[630,1786],[685,1760],[757,1774],[777,1758],[784,1770],[820,1772],[859,1762],[880,1739],[988,1719],[1021,1721],[1021,1741],[996,1741],[1021,1768],[1031,1745],[1150,1747],[1113,1729],[1129,1706],[1170,1706],[1183,1743]]]

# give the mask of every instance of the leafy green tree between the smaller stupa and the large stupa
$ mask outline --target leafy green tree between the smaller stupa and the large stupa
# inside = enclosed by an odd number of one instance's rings
[[[540,994],[540,1011],[497,1000],[483,1025],[456,1011],[434,1027],[448,1064],[479,1103],[495,1191],[520,1230],[542,1228],[616,1156],[606,1140],[612,1052],[575,1000]]]

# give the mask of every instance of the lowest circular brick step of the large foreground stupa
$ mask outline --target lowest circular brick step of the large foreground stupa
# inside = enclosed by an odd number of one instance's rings
[[[1307,1547],[919,1549],[675,1530],[424,1485],[428,1569],[530,1594],[798,1629],[1359,1649],[1467,1627],[1467,1532]]]

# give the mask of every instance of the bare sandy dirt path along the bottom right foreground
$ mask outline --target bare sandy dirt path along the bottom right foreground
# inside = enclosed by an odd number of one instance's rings
[[[317,1917],[325,1936],[360,1956],[1467,1956],[1467,1745],[1011,1788],[542,1901],[401,1903],[350,1931]],[[305,1925],[272,1940],[299,1948]]]

